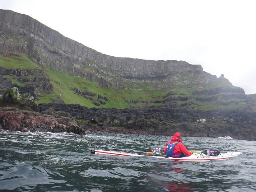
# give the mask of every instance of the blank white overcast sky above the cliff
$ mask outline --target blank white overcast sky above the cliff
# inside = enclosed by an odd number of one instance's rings
[[[183,60],[256,93],[255,0],[0,0],[101,53]]]

